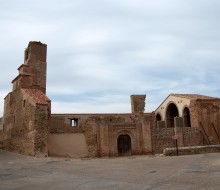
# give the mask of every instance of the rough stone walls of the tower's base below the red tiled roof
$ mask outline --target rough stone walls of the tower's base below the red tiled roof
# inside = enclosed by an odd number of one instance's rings
[[[10,98],[13,98],[11,105]],[[49,114],[50,105],[34,104],[21,90],[13,91],[5,99],[4,149],[27,155],[47,155]]]

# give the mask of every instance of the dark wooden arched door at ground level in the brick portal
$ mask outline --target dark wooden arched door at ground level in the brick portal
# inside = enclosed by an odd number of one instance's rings
[[[117,144],[119,156],[131,155],[131,137],[129,135],[120,135]]]

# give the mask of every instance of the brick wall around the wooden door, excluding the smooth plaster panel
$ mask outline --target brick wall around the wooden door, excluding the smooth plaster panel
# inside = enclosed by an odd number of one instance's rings
[[[142,131],[150,128],[152,114],[144,114],[141,120],[133,114],[53,114],[50,121],[50,133],[83,133],[85,135],[88,155],[118,156],[117,139],[120,134],[128,134],[132,142],[132,154],[151,152],[149,138]],[[70,126],[70,118],[76,118],[78,125]],[[144,137],[143,137],[144,135]],[[148,142],[144,146],[144,142]],[[146,144],[145,143],[145,144]]]

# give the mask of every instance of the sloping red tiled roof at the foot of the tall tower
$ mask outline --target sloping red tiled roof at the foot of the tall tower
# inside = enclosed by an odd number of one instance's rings
[[[48,104],[50,99],[40,89],[22,89],[36,104]]]

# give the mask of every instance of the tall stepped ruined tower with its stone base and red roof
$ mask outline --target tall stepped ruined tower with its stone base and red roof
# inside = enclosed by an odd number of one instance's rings
[[[50,100],[46,97],[46,49],[30,42],[24,64],[5,97],[3,147],[33,156],[47,156]]]

